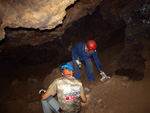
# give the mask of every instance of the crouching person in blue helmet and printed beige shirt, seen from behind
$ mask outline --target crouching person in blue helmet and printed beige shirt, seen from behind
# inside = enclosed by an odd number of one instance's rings
[[[74,69],[67,62],[61,66],[62,77],[53,81],[48,90],[41,89],[41,101],[44,113],[79,113],[81,101],[86,103],[87,98],[84,94],[82,83],[73,77]],[[58,96],[58,102],[53,98]]]

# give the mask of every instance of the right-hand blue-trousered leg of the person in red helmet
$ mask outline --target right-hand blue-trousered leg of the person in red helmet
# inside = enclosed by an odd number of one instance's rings
[[[84,60],[89,81],[95,81],[93,63],[90,58]]]

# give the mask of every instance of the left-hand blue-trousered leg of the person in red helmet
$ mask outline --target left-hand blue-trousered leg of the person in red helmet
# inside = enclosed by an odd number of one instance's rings
[[[78,80],[80,80],[80,73],[79,73],[79,66],[76,63],[74,57],[72,57],[72,62],[73,62],[73,68],[74,68],[74,77]]]

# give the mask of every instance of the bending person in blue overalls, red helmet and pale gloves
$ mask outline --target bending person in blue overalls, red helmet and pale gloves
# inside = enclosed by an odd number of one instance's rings
[[[97,57],[96,52],[97,44],[94,40],[89,40],[88,42],[79,42],[72,51],[72,61],[73,67],[75,69],[74,77],[80,80],[79,68],[81,68],[81,61],[85,62],[86,72],[89,81],[95,81],[94,77],[94,68],[91,57],[93,57],[95,64],[100,72],[102,82],[105,82],[110,79],[109,76],[105,74],[102,70],[102,66]]]

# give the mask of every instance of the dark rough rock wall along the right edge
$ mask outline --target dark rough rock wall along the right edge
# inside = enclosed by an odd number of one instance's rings
[[[145,50],[150,49],[150,1],[127,0],[125,2],[111,2],[110,4],[113,4],[113,6],[109,14],[114,19],[113,22],[109,21],[110,24],[115,29],[118,29],[123,25],[121,20],[124,20],[126,23],[125,47],[118,61],[119,69],[116,73],[125,75],[126,72],[129,72],[131,74],[130,77],[133,78],[136,75],[143,75],[146,68],[145,62],[150,60],[144,54]],[[102,8],[102,11],[103,9],[107,10]],[[107,20],[112,20],[107,14],[104,14],[104,17]],[[120,25],[119,27],[118,24]],[[149,51],[147,53],[149,54]]]

